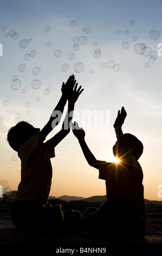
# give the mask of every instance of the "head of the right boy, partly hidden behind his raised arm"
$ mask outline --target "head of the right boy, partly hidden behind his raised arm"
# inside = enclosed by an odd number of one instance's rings
[[[137,137],[135,137],[131,133],[125,133],[124,136],[129,145],[131,155],[134,156],[138,160],[144,150],[143,144],[141,143],[141,141],[139,141],[139,139]],[[118,143],[118,142],[116,142],[116,143]],[[116,144],[113,146],[113,154],[114,154],[114,156],[116,156]]]

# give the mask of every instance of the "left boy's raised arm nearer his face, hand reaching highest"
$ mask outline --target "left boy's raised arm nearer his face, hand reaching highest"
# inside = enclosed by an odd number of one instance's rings
[[[40,131],[38,144],[41,144],[44,141],[44,139],[46,138],[46,136],[54,129],[54,127],[60,123],[64,106],[66,105],[68,96],[72,92],[72,90],[75,86],[75,83],[76,83],[76,80],[75,80],[74,75],[72,75],[68,78],[66,84],[64,84],[64,82],[62,83],[61,98],[60,98],[59,102],[57,103],[53,113],[51,114],[48,123]]]

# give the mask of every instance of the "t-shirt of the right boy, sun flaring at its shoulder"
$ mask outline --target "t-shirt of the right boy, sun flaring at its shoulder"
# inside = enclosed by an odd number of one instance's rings
[[[129,216],[140,218],[146,227],[143,172],[135,157],[132,157],[132,161],[132,167],[129,169],[120,162],[100,161],[99,179],[106,180],[107,200],[124,208]]]

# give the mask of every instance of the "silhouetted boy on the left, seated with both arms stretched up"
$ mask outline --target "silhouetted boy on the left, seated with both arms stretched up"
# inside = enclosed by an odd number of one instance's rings
[[[57,103],[48,123],[40,129],[25,121],[16,124],[8,132],[7,140],[21,159],[21,182],[11,207],[11,220],[21,229],[58,230],[63,222],[61,205],[48,205],[51,187],[52,167],[50,158],[55,157],[55,147],[70,131],[74,105],[81,94],[74,76],[62,84],[61,99]],[[75,87],[74,87],[75,86]],[[62,129],[47,142],[46,136],[59,124],[64,106],[68,110]]]

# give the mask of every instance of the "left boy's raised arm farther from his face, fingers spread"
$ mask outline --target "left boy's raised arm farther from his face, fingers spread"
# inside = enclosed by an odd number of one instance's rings
[[[79,87],[79,89],[77,89],[76,83],[73,92],[69,95],[66,117],[64,118],[62,129],[54,136],[54,147],[56,147],[56,145],[59,144],[62,141],[62,139],[66,137],[70,132],[75,102],[77,101],[79,95],[83,92],[83,90],[84,89],[81,89],[81,86]]]

